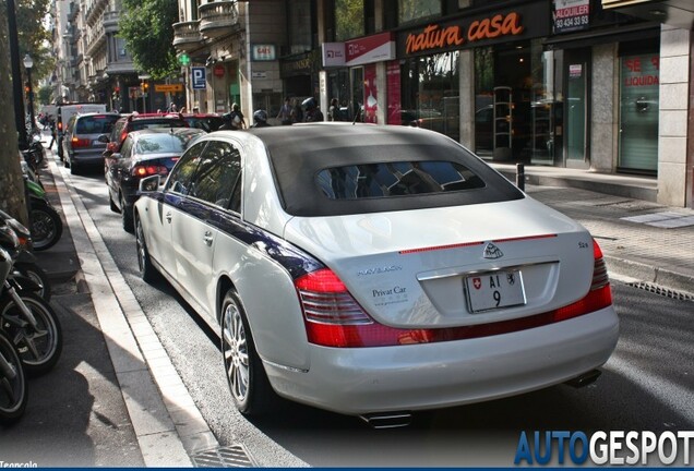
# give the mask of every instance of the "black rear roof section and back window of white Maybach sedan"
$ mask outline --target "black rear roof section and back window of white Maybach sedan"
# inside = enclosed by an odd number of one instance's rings
[[[292,128],[285,130],[282,128]],[[275,126],[263,138],[284,209],[338,216],[519,200],[454,141],[400,126]]]

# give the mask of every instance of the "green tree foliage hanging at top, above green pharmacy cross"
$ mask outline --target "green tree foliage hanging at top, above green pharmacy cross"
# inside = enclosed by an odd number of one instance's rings
[[[119,35],[125,39],[135,68],[155,80],[179,70],[174,49],[177,2],[171,0],[123,0]]]

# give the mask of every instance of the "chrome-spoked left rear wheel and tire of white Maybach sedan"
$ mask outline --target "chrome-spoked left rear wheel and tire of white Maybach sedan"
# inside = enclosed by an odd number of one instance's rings
[[[222,357],[236,408],[243,415],[264,415],[276,409],[278,397],[270,385],[255,350],[246,312],[234,289],[222,302]]]

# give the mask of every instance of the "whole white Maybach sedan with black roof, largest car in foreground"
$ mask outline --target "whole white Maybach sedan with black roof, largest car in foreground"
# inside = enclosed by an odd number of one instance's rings
[[[140,273],[222,333],[244,414],[279,395],[399,425],[589,383],[617,345],[588,231],[439,133],[218,131],[160,180],[134,207]]]

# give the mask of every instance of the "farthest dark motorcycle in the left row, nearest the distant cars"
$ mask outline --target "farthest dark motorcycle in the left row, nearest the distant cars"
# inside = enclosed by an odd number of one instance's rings
[[[24,179],[26,188],[34,250],[53,246],[62,235],[62,219],[46,198],[46,191],[36,182]]]

